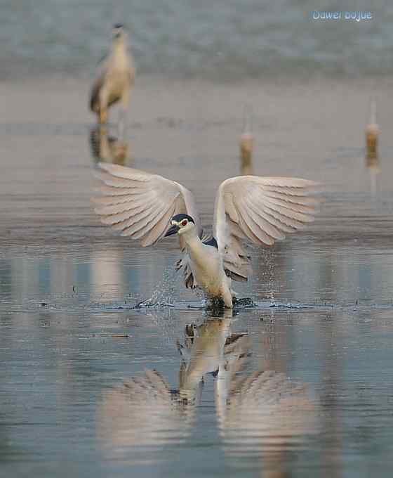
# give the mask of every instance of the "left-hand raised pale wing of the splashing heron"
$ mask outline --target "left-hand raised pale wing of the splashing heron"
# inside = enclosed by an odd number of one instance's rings
[[[175,214],[191,216],[200,232],[194,196],[175,181],[117,164],[99,163],[102,196],[95,212],[121,235],[141,241],[143,247],[162,238]],[[180,244],[180,247],[182,245]]]

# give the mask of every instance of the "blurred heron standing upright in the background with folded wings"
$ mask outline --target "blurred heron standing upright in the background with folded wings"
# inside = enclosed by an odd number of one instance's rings
[[[102,60],[100,75],[91,89],[90,108],[98,121],[108,120],[108,108],[120,101],[124,111],[128,106],[135,80],[133,58],[127,50],[127,35],[122,25],[114,25],[112,49]]]

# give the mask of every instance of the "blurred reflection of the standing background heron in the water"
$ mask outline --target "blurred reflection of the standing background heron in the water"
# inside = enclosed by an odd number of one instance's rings
[[[91,155],[95,162],[110,162],[121,166],[133,166],[134,159],[125,139],[109,136],[107,127],[98,126],[90,132]]]

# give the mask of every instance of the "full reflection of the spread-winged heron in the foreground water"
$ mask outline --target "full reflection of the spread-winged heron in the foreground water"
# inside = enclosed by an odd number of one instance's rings
[[[314,406],[307,387],[274,370],[252,370],[251,337],[232,332],[232,311],[187,325],[178,340],[179,387],[156,370],[102,396],[98,430],[115,455],[135,446],[162,446],[190,434],[204,382],[213,376],[215,411],[225,453],[284,451],[312,432]]]

